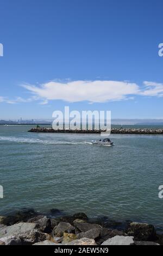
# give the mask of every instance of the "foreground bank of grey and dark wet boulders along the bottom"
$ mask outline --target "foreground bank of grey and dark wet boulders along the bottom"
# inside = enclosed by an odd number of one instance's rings
[[[0,245],[163,245],[163,235],[147,223],[89,218],[83,212],[64,216],[58,209],[51,215],[22,209],[0,216]]]

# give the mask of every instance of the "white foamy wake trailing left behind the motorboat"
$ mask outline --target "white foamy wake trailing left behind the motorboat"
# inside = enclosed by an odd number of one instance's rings
[[[40,140],[31,138],[0,136],[0,141],[17,142],[21,144],[43,144],[43,145],[92,145],[92,142],[87,141],[53,141]]]

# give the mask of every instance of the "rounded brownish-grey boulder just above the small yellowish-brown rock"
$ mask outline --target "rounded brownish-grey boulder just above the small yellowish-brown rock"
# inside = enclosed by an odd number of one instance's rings
[[[54,229],[53,235],[57,235],[59,237],[63,236],[64,233],[75,233],[74,227],[70,223],[60,222]]]

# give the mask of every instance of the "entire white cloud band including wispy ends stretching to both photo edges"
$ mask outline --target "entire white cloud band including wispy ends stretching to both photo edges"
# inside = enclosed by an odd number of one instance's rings
[[[163,97],[163,84],[143,82],[139,86],[129,81],[50,81],[41,85],[22,85],[33,96],[27,99],[16,97],[9,99],[0,97],[0,103],[30,103],[39,101],[40,105],[48,104],[49,100],[65,102],[105,103],[110,101],[133,100],[135,96]]]

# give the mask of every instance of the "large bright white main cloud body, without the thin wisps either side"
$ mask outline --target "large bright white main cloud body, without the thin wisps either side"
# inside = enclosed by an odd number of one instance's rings
[[[40,86],[23,85],[35,96],[45,100],[64,100],[66,102],[102,103],[128,99],[140,93],[139,86],[121,81],[72,81],[48,82]]]

